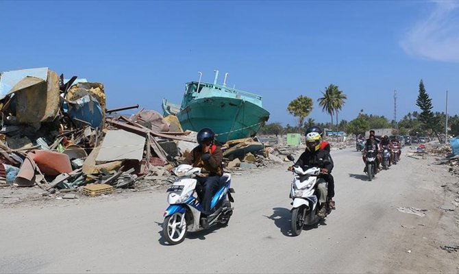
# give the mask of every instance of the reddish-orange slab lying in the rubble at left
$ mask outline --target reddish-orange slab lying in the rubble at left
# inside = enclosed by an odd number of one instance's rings
[[[49,150],[34,150],[28,153],[42,173],[57,176],[71,173],[72,164],[68,155]]]

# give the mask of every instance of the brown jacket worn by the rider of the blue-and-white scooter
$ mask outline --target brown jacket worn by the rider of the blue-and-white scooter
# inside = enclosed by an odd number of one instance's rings
[[[202,150],[200,146],[195,147],[186,159],[183,164],[191,164],[195,167],[201,168],[201,173],[206,176],[209,175],[223,175],[223,166],[221,162],[223,161],[223,152],[219,147],[212,147],[210,152],[210,158],[208,160],[202,160]]]

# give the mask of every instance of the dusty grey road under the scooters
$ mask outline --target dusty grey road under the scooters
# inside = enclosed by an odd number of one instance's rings
[[[360,153],[332,151],[337,210],[318,227],[290,236],[287,164],[234,176],[228,227],[189,234],[168,246],[160,236],[164,192],[68,205],[0,210],[2,273],[363,273],[391,271],[408,214],[416,161],[402,158],[368,182]],[[418,185],[417,185],[418,184]],[[411,215],[413,216],[413,215]],[[432,222],[435,220],[432,219]],[[388,264],[389,263],[389,264]]]

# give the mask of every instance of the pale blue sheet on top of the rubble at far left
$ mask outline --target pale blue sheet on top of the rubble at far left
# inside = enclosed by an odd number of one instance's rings
[[[38,69],[21,69],[19,71],[6,71],[1,73],[0,78],[0,99],[5,98],[8,92],[16,85],[21,82],[27,76],[36,77],[39,79],[47,80],[48,68]]]

